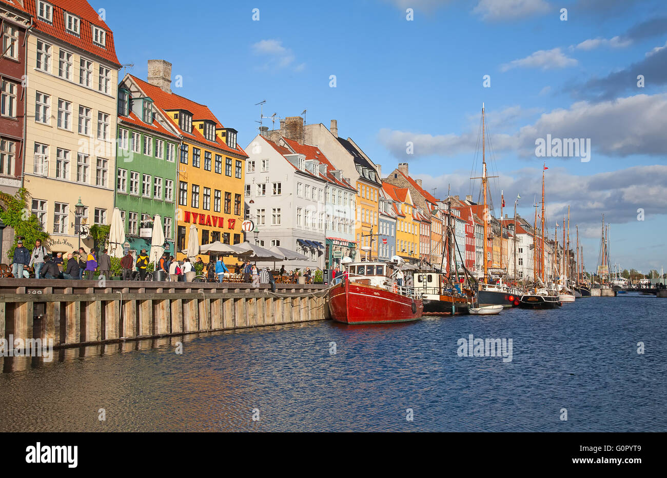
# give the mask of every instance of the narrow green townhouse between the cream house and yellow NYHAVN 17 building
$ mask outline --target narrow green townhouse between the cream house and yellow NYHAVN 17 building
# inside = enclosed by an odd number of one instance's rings
[[[117,115],[115,207],[125,225],[125,241],[135,253],[150,250],[148,232],[159,215],[165,252],[175,255],[179,132],[131,75],[118,87]]]

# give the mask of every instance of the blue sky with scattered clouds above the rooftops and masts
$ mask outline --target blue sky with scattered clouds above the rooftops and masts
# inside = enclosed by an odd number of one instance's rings
[[[148,59],[167,59],[172,75],[183,76],[175,93],[209,105],[223,125],[239,130],[240,144],[257,132],[255,103],[266,100],[267,116],[307,109],[307,123],[338,119],[339,134],[352,137],[384,173],[410,163],[411,175],[437,187],[437,197],[448,184],[453,194],[478,194],[468,178],[484,102],[492,167],[500,174],[492,184],[496,205],[500,189],[508,207],[520,193],[519,212],[532,217],[546,159],[550,233],[569,204],[571,238],[579,224],[589,270],[602,213],[612,223],[612,262],[644,271],[667,266],[662,0],[92,5],[106,8],[121,63],[135,65],[127,71],[145,78]],[[640,74],[643,88],[636,85]],[[546,134],[589,138],[590,161],[536,157],[534,141]]]

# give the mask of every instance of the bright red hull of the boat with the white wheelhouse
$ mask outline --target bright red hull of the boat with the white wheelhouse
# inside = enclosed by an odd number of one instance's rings
[[[336,322],[349,324],[408,322],[422,317],[424,303],[373,285],[345,281],[329,289],[329,311]]]

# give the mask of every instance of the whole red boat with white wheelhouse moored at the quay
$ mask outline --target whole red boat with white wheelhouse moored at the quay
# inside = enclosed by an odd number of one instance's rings
[[[386,262],[350,263],[348,277],[329,289],[329,311],[348,324],[408,322],[420,319],[424,303],[414,289],[392,279]]]

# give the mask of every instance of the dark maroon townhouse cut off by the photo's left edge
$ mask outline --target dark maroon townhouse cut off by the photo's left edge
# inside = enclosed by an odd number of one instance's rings
[[[0,0],[0,191],[14,195],[21,187],[25,147],[25,34],[30,15],[21,4]],[[7,251],[14,241],[11,227],[3,231],[0,263],[11,263]]]

